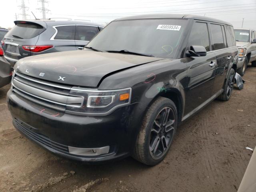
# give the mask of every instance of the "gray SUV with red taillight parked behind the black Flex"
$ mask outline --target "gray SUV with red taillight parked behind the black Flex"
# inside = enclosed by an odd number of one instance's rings
[[[20,58],[82,49],[103,27],[77,20],[18,20],[3,38],[4,57],[12,66]]]

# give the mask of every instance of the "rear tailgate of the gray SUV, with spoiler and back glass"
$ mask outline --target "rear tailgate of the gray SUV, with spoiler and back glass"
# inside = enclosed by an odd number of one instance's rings
[[[24,45],[35,45],[38,36],[46,28],[33,22],[21,21],[14,26],[4,37],[5,57],[10,62],[15,62],[20,58],[30,56],[30,51],[22,48]]]

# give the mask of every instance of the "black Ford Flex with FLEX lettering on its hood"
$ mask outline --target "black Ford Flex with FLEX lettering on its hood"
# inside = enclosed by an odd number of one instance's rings
[[[82,51],[19,60],[8,106],[22,134],[84,162],[167,154],[177,125],[230,99],[238,48],[231,24],[156,14],[114,20]]]

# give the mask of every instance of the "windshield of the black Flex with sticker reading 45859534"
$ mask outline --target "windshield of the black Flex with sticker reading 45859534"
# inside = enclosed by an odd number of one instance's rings
[[[147,19],[111,22],[86,46],[102,51],[126,50],[154,57],[174,57],[187,20]]]

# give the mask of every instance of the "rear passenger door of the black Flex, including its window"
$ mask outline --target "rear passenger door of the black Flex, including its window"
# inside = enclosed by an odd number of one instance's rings
[[[216,55],[216,74],[214,86],[212,87],[213,94],[219,92],[224,85],[228,66],[234,58],[236,48],[228,48],[226,43],[226,32],[223,24],[210,24],[212,50]]]

